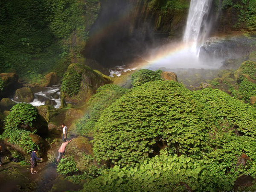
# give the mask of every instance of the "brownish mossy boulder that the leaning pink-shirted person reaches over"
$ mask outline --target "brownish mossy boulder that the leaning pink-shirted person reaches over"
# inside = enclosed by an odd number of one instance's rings
[[[88,164],[86,156],[92,157],[93,147],[87,138],[77,137],[67,145],[66,155],[74,157],[77,168],[85,171]]]

